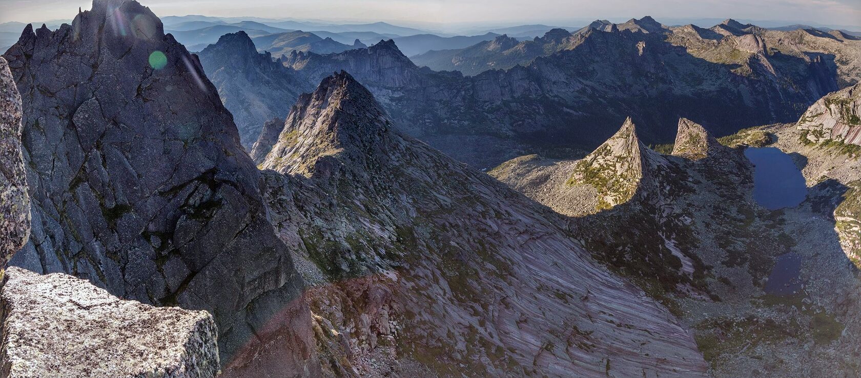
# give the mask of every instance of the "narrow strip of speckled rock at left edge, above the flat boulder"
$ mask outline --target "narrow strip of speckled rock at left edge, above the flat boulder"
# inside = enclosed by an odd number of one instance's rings
[[[30,201],[21,156],[21,95],[0,58],[0,266],[27,241]]]

